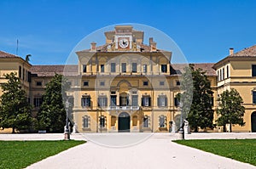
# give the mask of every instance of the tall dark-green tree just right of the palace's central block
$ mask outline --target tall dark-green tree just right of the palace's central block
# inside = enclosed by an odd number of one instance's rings
[[[212,90],[205,71],[194,69],[194,65],[185,68],[182,76],[181,95],[183,114],[187,116],[189,125],[195,132],[198,127],[212,127]]]

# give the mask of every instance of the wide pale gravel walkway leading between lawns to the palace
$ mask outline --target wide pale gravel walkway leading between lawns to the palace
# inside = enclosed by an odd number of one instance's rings
[[[89,136],[88,136],[89,135]],[[67,149],[58,155],[51,156],[43,161],[28,166],[27,168],[89,168],[89,169],[157,169],[157,168],[189,168],[189,169],[243,169],[256,168],[255,166],[230,160],[218,155],[212,155],[198,149],[175,144],[171,140],[177,138],[177,134],[155,133],[153,135],[137,134],[144,137],[143,142],[129,146],[131,140],[136,140],[136,134],[132,133],[108,133],[102,134],[73,134],[73,139],[88,139],[88,143],[81,144],[72,149]],[[227,135],[230,135],[228,137]],[[136,136],[136,137],[134,137]],[[147,136],[147,137],[145,137]],[[85,138],[84,138],[85,137]],[[199,133],[186,135],[193,138],[256,138],[256,133]],[[9,134],[0,135],[0,139],[62,139],[63,134]],[[113,139],[111,139],[113,138]],[[113,140],[119,141],[113,144]],[[124,139],[125,138],[125,139]],[[98,143],[99,140],[106,140]],[[97,144],[96,144],[97,143]],[[110,144],[112,143],[112,145]],[[126,147],[122,144],[125,143]],[[105,144],[104,146],[99,144]],[[118,145],[113,148],[113,145]]]

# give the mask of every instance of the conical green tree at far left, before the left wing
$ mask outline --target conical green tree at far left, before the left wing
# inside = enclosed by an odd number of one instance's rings
[[[15,129],[29,129],[32,126],[32,106],[26,98],[26,91],[22,89],[17,73],[5,75],[8,82],[2,84],[3,95],[0,97],[0,127]]]

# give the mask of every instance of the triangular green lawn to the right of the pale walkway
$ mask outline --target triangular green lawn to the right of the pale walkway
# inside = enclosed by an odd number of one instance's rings
[[[256,166],[256,139],[176,140],[174,142]]]

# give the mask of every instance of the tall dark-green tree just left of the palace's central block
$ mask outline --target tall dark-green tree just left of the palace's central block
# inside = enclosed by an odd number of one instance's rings
[[[46,84],[43,103],[37,115],[38,129],[45,129],[48,132],[63,132],[66,121],[64,102],[67,95],[65,92],[68,88],[67,79],[59,74],[55,74]]]

